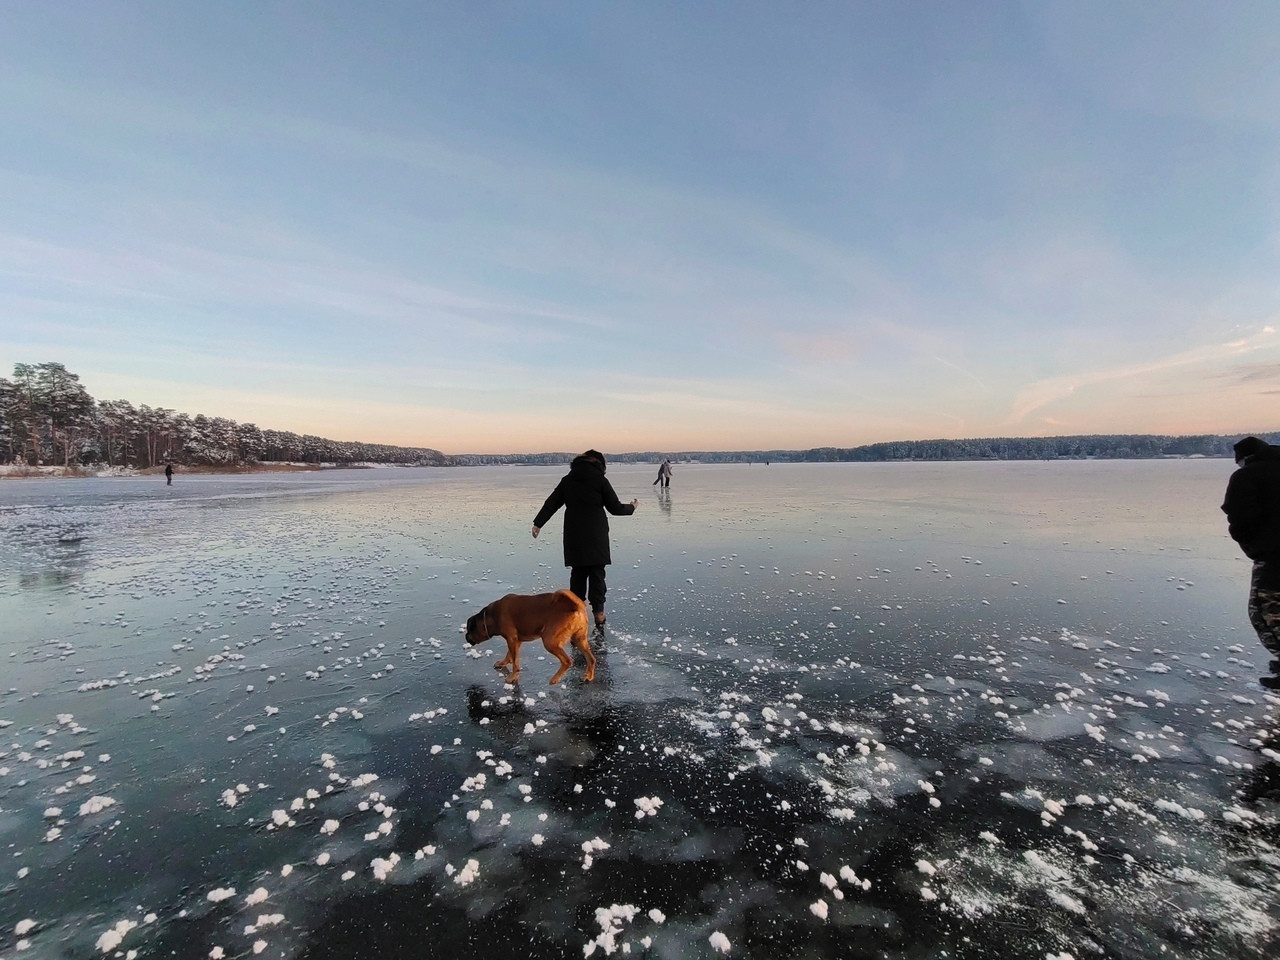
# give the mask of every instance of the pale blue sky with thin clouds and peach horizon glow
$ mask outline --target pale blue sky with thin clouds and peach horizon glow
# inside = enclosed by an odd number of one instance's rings
[[[1280,4],[0,4],[0,375],[445,453],[1280,429]]]

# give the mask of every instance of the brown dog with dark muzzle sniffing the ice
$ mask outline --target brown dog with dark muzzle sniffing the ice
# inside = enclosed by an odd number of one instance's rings
[[[515,684],[520,676],[520,645],[535,636],[540,636],[547,653],[561,662],[552,684],[558,684],[572,663],[564,653],[570,640],[586,658],[586,682],[595,680],[595,654],[586,640],[586,607],[568,590],[532,596],[507,594],[494,600],[467,620],[468,644],[483,644],[490,636],[507,641],[507,655],[493,666],[495,669],[511,667],[508,684]]]

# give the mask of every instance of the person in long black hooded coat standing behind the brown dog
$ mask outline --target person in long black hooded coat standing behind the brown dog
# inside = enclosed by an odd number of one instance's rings
[[[570,463],[568,472],[552,490],[543,508],[534,517],[536,538],[547,521],[564,508],[564,566],[570,568],[568,589],[589,602],[596,625],[604,623],[604,568],[609,556],[609,518],[636,512],[639,500],[622,503],[604,479],[604,454],[588,451]]]

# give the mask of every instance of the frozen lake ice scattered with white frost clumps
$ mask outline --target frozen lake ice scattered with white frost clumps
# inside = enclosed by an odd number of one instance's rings
[[[0,481],[0,957],[1265,957],[1226,461]]]

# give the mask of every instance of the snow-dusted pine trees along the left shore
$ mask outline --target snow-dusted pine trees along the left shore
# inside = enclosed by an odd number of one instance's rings
[[[152,467],[164,462],[233,466],[259,461],[298,463],[404,463],[443,466],[439,451],[329,440],[262,430],[202,413],[95,401],[61,364],[15,364],[0,378],[0,462],[106,463]]]

